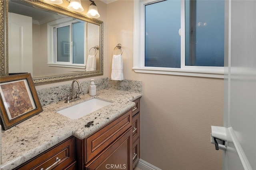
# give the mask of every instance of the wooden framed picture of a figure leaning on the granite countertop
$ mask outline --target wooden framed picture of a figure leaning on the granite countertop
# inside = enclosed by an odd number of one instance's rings
[[[1,77],[0,99],[4,130],[43,111],[30,73]]]

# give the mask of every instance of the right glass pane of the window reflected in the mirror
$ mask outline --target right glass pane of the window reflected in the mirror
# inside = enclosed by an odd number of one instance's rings
[[[73,63],[84,64],[84,22],[73,23]]]

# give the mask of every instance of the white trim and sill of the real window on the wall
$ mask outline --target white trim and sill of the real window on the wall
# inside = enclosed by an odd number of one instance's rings
[[[144,34],[144,6],[162,0],[136,0],[134,1],[134,35],[133,35],[133,67],[135,72],[151,74],[172,74],[182,76],[199,76],[211,78],[224,78],[224,67],[214,66],[185,66],[185,22],[181,22],[181,68],[146,67],[145,34]],[[185,20],[185,1],[181,1],[181,18]]]

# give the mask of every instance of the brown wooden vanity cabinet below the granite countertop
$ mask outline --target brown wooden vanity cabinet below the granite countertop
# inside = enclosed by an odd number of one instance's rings
[[[132,170],[140,158],[140,99],[86,139],[70,137],[15,170]]]

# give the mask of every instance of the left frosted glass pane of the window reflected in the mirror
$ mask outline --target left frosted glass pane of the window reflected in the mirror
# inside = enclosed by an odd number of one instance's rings
[[[70,61],[70,26],[57,28],[57,61]]]

